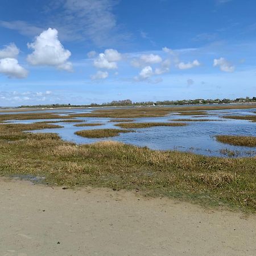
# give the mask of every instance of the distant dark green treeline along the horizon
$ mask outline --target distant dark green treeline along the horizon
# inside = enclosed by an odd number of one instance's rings
[[[89,105],[71,105],[71,104],[48,104],[48,105],[22,105],[19,108],[82,108],[82,107],[97,107],[97,106],[151,106],[151,105],[193,105],[193,104],[228,104],[228,103],[243,103],[256,102],[256,97],[236,98],[230,100],[223,98],[222,100],[216,98],[215,100],[204,100],[198,98],[196,100],[180,100],[180,101],[142,101],[133,102],[131,100],[112,101],[103,104],[92,103]]]

